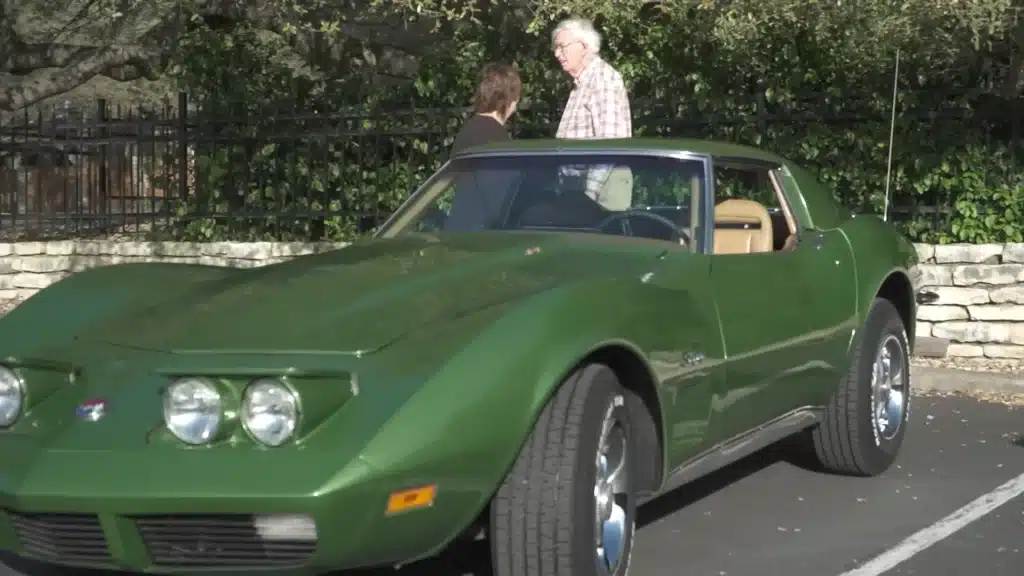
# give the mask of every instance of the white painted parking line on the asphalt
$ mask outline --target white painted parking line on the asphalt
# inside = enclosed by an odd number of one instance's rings
[[[1024,475],[1011,480],[939,522],[911,535],[870,562],[839,576],[881,576],[1021,494],[1024,494]]]

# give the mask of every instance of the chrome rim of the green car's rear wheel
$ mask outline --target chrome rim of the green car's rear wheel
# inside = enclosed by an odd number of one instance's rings
[[[906,393],[903,385],[906,353],[895,334],[882,340],[871,370],[871,423],[874,444],[892,440],[903,422]]]

